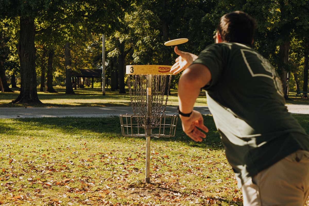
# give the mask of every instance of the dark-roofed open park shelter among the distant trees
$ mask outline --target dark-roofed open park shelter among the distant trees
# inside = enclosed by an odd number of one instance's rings
[[[79,69],[72,72],[72,84],[74,88],[84,88],[85,78],[91,78],[91,88],[93,88],[93,78],[101,78],[102,69]],[[83,81],[82,81],[83,79]]]

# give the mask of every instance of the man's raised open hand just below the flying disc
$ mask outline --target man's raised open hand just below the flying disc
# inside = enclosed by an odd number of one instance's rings
[[[188,68],[188,66],[190,66],[190,64],[192,64],[192,62],[198,57],[189,52],[180,51],[177,46],[174,48],[174,51],[179,55],[179,57],[177,57],[176,63],[171,68],[171,72],[173,74],[178,74],[179,72]]]

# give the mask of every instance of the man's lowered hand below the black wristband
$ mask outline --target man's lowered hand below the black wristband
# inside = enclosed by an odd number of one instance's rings
[[[206,134],[197,129],[197,127],[204,132],[208,132],[208,128],[204,125],[204,119],[201,113],[193,110],[190,117],[183,117],[181,115],[179,116],[181,119],[182,130],[184,130],[184,133],[186,133],[191,139],[196,142],[203,141],[202,138],[205,138]]]

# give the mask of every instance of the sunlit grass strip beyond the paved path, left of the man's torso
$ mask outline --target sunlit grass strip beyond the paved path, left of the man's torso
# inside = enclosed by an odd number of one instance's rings
[[[58,93],[44,93],[38,92],[41,105],[28,105],[28,106],[41,106],[41,107],[75,107],[75,106],[129,106],[130,95],[126,89],[125,94],[119,94],[118,91],[111,92],[107,89],[105,96],[102,95],[101,89],[77,89],[74,90],[75,94],[66,95],[65,88],[55,87]],[[14,93],[0,93],[0,107],[22,107],[24,104],[11,104],[18,95],[18,89],[14,89]],[[39,88],[38,88],[39,91]],[[163,102],[165,104],[165,102]],[[197,98],[195,106],[205,106],[206,104],[205,91],[201,92]],[[178,105],[177,90],[171,90],[171,96],[168,97],[167,105]]]

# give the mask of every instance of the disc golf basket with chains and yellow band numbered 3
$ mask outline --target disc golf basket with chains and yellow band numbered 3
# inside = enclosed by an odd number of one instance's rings
[[[146,183],[150,183],[150,138],[175,137],[176,133],[177,115],[165,114],[170,70],[171,66],[165,65],[126,66],[133,114],[120,115],[121,132],[126,137],[146,138]],[[168,88],[164,98],[166,81]]]

